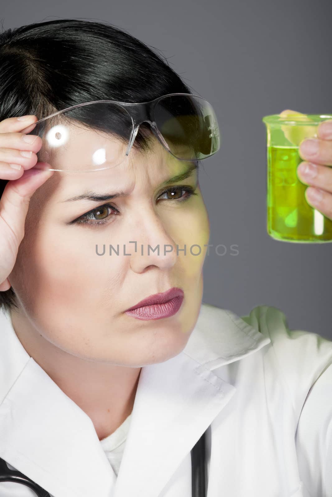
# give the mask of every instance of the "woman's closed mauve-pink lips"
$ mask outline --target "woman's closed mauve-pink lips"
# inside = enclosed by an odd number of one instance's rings
[[[167,292],[150,295],[127,309],[125,313],[141,320],[168,318],[178,312],[183,299],[183,290],[173,287]]]

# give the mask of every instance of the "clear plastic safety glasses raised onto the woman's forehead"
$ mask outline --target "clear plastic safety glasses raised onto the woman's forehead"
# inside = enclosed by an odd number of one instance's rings
[[[143,125],[134,143],[142,123],[150,129]],[[212,105],[190,93],[170,93],[142,103],[81,103],[39,119],[25,130],[42,139],[38,162],[56,171],[90,172],[118,166],[132,146],[151,150],[154,137],[159,147],[180,161],[202,161],[220,149]]]

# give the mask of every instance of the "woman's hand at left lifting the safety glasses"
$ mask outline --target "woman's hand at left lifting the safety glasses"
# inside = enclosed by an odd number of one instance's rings
[[[46,163],[37,164],[37,152],[41,149],[42,140],[30,133],[37,117],[18,121],[17,117],[9,117],[0,121],[0,179],[9,179],[0,198],[0,291],[10,288],[8,275],[14,267],[19,244],[24,236],[25,218],[32,194],[49,179],[54,171],[43,169]],[[35,138],[27,143],[23,138]],[[31,157],[24,157],[21,152],[32,152]],[[20,168],[13,168],[10,166]],[[28,263],[28,261],[27,261]]]

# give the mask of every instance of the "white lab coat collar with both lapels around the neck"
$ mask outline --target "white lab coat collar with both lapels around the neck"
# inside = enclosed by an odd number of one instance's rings
[[[233,312],[203,303],[184,350],[141,370],[116,478],[90,417],[0,312],[0,457],[54,496],[155,497],[234,395],[221,366],[270,341]]]

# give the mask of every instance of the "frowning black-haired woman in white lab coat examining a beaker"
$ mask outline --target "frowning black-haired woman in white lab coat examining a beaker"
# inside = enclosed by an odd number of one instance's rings
[[[239,317],[202,304],[210,226],[199,162],[184,169],[147,123],[121,164],[80,175],[45,169],[42,139],[23,140],[29,125],[77,104],[189,87],[129,34],[75,19],[2,33],[0,73],[7,467],[54,497],[189,497],[191,450],[206,432],[208,497],[331,495],[332,342],[290,331],[274,307]],[[318,187],[332,184],[325,130]],[[79,160],[95,136],[88,128]],[[132,242],[171,249],[147,254]],[[98,256],[103,244],[125,251]],[[185,245],[201,253],[176,252]],[[168,305],[142,304],[155,294]],[[1,497],[16,495],[16,484],[0,485]]]

